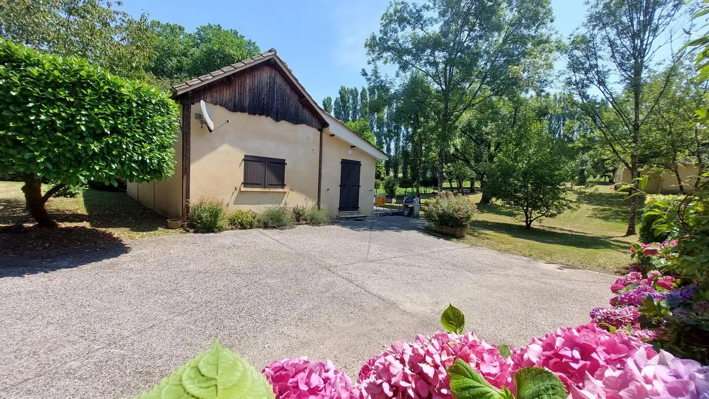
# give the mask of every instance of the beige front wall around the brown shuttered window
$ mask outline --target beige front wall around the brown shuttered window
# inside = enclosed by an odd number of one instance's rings
[[[209,109],[214,131],[200,126],[194,116],[191,119],[191,202],[213,197],[224,200],[229,211],[258,211],[267,204],[316,204],[320,131],[213,104]],[[196,113],[201,113],[199,103],[192,106],[192,114]],[[220,126],[226,119],[230,122]],[[285,159],[286,189],[242,189],[244,155]]]

